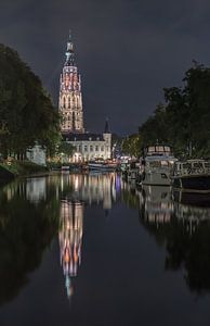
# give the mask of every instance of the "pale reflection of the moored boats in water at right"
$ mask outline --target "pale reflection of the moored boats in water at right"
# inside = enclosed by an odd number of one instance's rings
[[[193,205],[191,195],[187,196],[187,193],[184,193],[185,203],[182,203],[181,195],[183,193],[172,197],[170,187],[144,186],[140,196],[140,208],[144,220],[158,228],[171,223],[173,216],[182,221],[183,228],[193,235],[202,221],[210,220],[210,206],[198,206],[197,202],[197,205]]]

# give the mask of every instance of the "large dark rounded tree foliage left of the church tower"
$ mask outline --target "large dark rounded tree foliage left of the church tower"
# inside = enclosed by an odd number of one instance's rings
[[[39,77],[4,45],[0,45],[0,152],[24,153],[37,141],[52,151],[60,117]]]

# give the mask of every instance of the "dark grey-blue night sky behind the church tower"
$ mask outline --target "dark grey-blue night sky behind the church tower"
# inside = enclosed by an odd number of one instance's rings
[[[84,127],[129,135],[210,63],[209,0],[0,0],[0,42],[18,51],[57,105],[68,30],[81,73]]]

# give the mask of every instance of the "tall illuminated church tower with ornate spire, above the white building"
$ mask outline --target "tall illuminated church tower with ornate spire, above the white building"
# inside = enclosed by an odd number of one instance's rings
[[[81,79],[75,63],[71,35],[67,42],[66,62],[60,82],[60,112],[62,114],[62,133],[84,133],[81,99]]]

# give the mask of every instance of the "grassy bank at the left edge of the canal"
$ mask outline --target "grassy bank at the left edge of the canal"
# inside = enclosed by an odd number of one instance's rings
[[[13,179],[22,176],[45,175],[47,166],[38,165],[29,161],[5,161],[0,163],[0,179]]]

